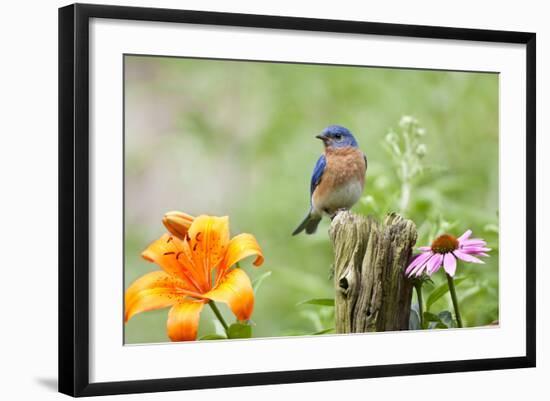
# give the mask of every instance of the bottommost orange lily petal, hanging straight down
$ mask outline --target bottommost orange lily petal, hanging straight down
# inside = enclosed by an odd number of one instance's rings
[[[166,329],[172,341],[193,341],[197,339],[199,320],[204,301],[181,300],[168,312]]]

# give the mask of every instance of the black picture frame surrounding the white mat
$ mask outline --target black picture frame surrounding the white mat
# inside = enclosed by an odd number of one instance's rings
[[[526,354],[521,357],[90,383],[89,21],[91,18],[274,28],[526,46]],[[436,26],[74,4],[59,9],[59,391],[94,396],[534,367],[536,35]]]

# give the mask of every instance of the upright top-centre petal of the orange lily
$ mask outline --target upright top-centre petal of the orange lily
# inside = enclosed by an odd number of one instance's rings
[[[223,259],[229,244],[229,218],[197,217],[187,232],[187,243],[195,266],[210,283],[211,272]]]

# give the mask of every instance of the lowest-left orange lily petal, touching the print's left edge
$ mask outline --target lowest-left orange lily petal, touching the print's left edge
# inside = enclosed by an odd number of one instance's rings
[[[137,313],[153,309],[166,308],[184,297],[181,280],[163,271],[145,274],[126,290],[124,296],[124,321],[127,322]]]

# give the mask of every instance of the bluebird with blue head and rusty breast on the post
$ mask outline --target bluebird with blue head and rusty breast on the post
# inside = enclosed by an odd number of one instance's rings
[[[365,187],[367,157],[357,146],[353,134],[344,127],[331,125],[317,135],[325,145],[311,176],[310,208],[306,218],[292,235],[306,230],[313,234],[323,217],[333,217],[340,209],[350,209]]]

